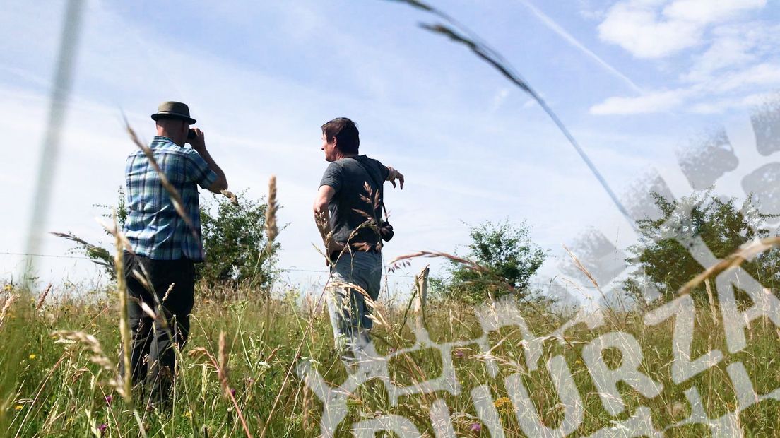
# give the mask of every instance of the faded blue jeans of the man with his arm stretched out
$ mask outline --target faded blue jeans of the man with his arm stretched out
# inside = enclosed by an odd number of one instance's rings
[[[332,267],[331,276],[328,313],[336,347],[363,349],[371,342],[368,336],[368,330],[374,325],[370,317],[371,306],[363,293],[339,283],[355,284],[375,302],[381,288],[382,256],[363,251],[344,253]]]

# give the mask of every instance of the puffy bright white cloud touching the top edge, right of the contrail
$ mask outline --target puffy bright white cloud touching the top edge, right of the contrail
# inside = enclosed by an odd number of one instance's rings
[[[609,9],[599,37],[637,58],[664,58],[704,44],[707,26],[764,5],[766,0],[628,0]]]

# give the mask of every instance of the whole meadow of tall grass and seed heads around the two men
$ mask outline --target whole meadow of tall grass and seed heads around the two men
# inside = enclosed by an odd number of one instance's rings
[[[148,148],[129,133],[154,163]],[[176,190],[166,189],[181,207]],[[278,235],[276,205],[271,178],[264,212],[269,253]],[[728,221],[713,223],[722,222]],[[105,228],[117,249],[129,245],[116,219]],[[117,373],[119,362],[129,361],[120,355],[129,331],[118,250],[119,281],[104,288],[76,288],[67,295],[59,288],[51,293],[51,287],[5,284],[0,431],[5,436],[375,436],[378,430],[385,436],[437,437],[767,436],[780,419],[780,299],[750,272],[775,275],[744,262],[778,243],[778,237],[765,237],[732,256],[726,252],[718,265],[653,301],[612,306],[605,300],[601,309],[580,310],[561,309],[519,290],[508,277],[496,277],[472,260],[445,253],[401,256],[388,263],[391,268],[408,266],[415,257],[445,257],[473,274],[466,283],[487,279],[495,296],[500,291],[505,299],[488,294],[475,304],[465,295],[444,294],[415,306],[418,293],[395,306],[370,302],[381,358],[357,366],[346,365],[344,351],[334,348],[324,310],[328,288],[302,300],[295,288],[278,296],[250,286],[253,281],[231,287],[200,281],[190,339],[177,351],[170,409],[149,407],[144,392]],[[417,282],[420,290],[423,283]],[[161,317],[158,310],[145,311]]]

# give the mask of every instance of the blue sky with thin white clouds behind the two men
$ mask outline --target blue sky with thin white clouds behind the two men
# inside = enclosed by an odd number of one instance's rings
[[[573,132],[617,193],[658,171],[714,125],[743,132],[780,85],[778,2],[505,0],[434,2],[501,51]],[[64,2],[11,2],[0,16],[0,252],[23,251]],[[558,274],[562,244],[626,221],[526,94],[462,46],[421,30],[434,16],[382,0],[87,2],[73,98],[46,229],[103,239],[95,203],[114,203],[159,101],[190,104],[231,189],[261,196],[278,177],[282,267],[319,270],[310,207],[325,162],[319,126],[348,116],[361,152],[399,168],[386,202],[397,230],[385,259],[456,250],[466,224],[528,221]],[[748,135],[735,134],[734,139]],[[748,144],[746,147],[750,147]],[[673,187],[673,189],[675,189]],[[685,193],[679,184],[677,193]],[[728,191],[728,190],[727,190]],[[206,195],[209,197],[210,195]],[[464,224],[466,223],[466,224]],[[42,253],[66,242],[44,238]],[[20,258],[0,254],[10,278]],[[413,270],[423,262],[417,263]],[[41,281],[82,280],[87,262],[44,259]],[[304,277],[305,276],[305,277]],[[290,274],[316,283],[317,274]],[[576,281],[575,281],[576,282]]]

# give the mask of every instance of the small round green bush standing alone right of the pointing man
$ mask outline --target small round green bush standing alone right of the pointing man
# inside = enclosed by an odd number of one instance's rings
[[[512,291],[527,295],[530,277],[546,258],[544,251],[531,241],[527,224],[486,221],[471,227],[469,235],[471,242],[464,258],[488,268],[488,272],[480,273],[452,262],[451,277],[438,284],[438,290],[471,302],[483,302],[489,295],[498,298]]]

